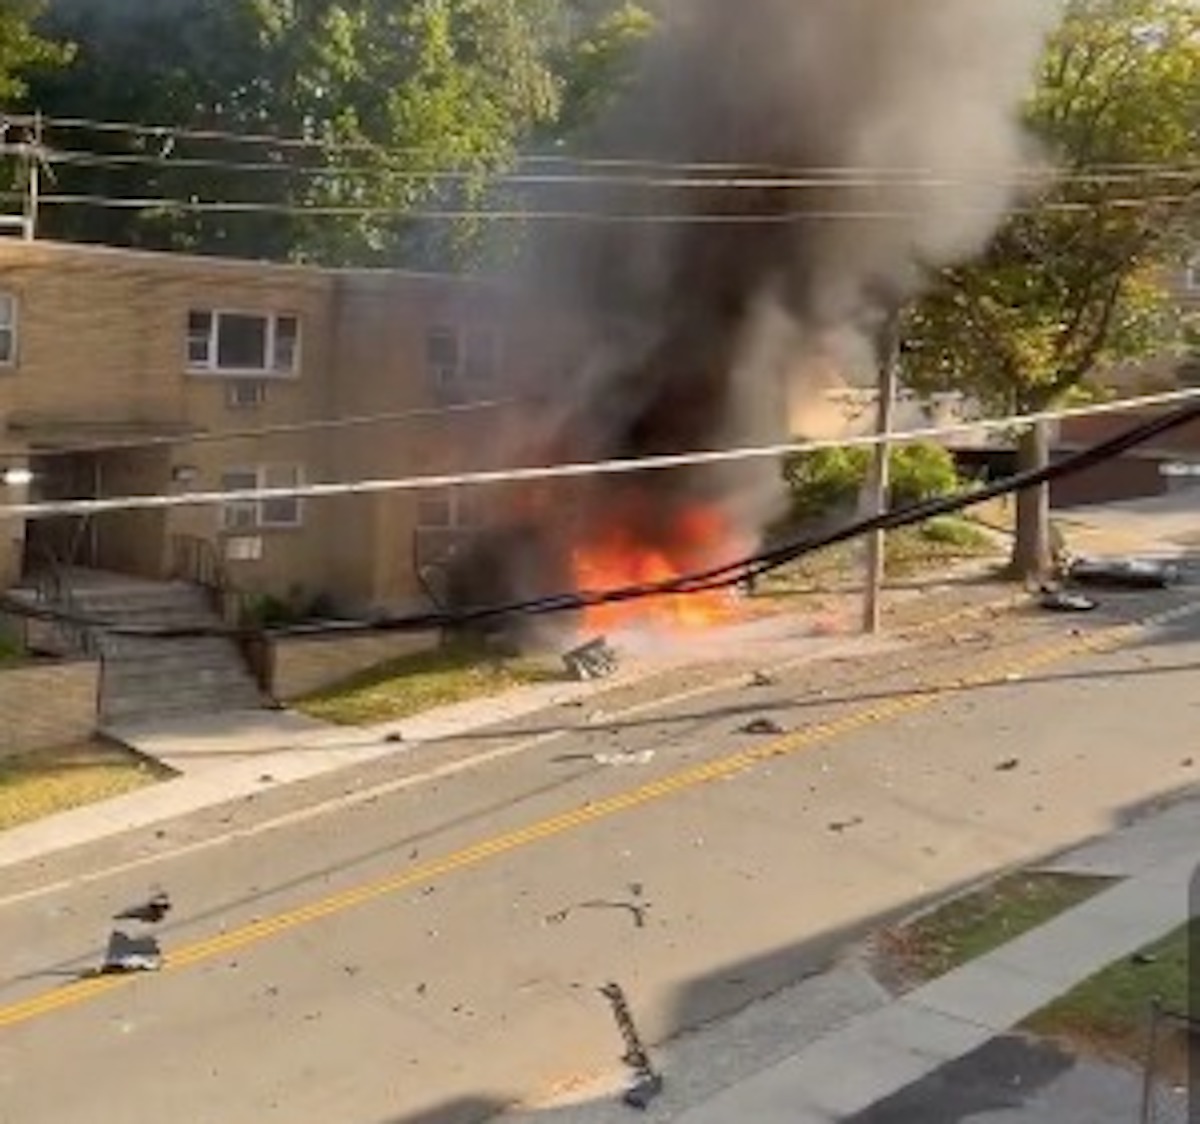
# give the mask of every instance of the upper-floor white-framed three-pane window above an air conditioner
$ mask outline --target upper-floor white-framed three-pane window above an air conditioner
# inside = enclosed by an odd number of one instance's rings
[[[286,378],[299,369],[294,315],[193,309],[187,314],[187,369],[204,374]]]

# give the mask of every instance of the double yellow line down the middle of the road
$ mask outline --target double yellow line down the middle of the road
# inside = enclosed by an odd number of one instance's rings
[[[919,693],[900,696],[862,710],[856,710],[844,717],[806,727],[793,734],[764,743],[761,746],[684,769],[659,781],[652,781],[594,804],[588,804],[583,807],[541,819],[528,827],[517,828],[493,839],[484,840],[445,855],[442,859],[434,859],[413,867],[404,873],[352,886],[348,890],[331,894],[306,906],[299,906],[295,909],[276,914],[272,918],[252,921],[239,928],[184,945],[167,957],[163,970],[179,972],[194,967],[215,957],[228,955],[229,952],[259,944],[272,937],[282,936],[301,926],[334,916],[335,914],[346,913],[359,906],[368,904],[404,890],[427,885],[460,871],[480,866],[492,859],[502,858],[503,855],[522,850],[536,843],[544,843],[547,840],[565,835],[568,831],[610,819],[623,812],[634,811],[644,805],[688,792],[689,789],[727,780],[764,762],[794,756],[847,734],[878,726],[905,715],[916,714],[932,707],[947,695],[1004,681],[1013,675],[1028,674],[1072,656],[1118,648],[1146,629],[1165,624],[1171,619],[1190,615],[1198,611],[1200,611],[1200,605],[1193,603],[1146,620],[1105,629],[1090,637],[1079,637],[1067,643],[1054,644],[1024,657],[998,661],[973,675],[928,687]],[[118,987],[128,984],[131,979],[133,976],[128,975],[94,976],[2,1006],[0,1008],[0,1028],[14,1027],[54,1011],[86,1003],[115,991]]]

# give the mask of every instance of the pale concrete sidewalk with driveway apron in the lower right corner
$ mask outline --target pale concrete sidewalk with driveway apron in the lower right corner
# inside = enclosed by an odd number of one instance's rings
[[[877,985],[872,994],[872,984],[860,968],[841,964],[754,1011],[689,1035],[661,1052],[666,1090],[646,1118],[676,1124],[976,1119],[946,1110],[948,1090],[959,1078],[930,1078],[985,1052],[1020,1053],[1020,1040],[1008,1038],[1013,1027],[1194,915],[1200,798],[1037,868],[1103,873],[1120,880],[1049,924],[900,998],[892,999]],[[823,1033],[806,1024],[814,1011],[829,1020]],[[781,1028],[797,1036],[791,1051],[778,1039]],[[994,1072],[988,1077],[996,1081],[995,1058],[990,1065]],[[1074,1068],[1074,1059],[1062,1066],[1064,1071]],[[740,1074],[733,1076],[731,1070]],[[1117,1086],[1130,1098],[1129,1104],[1110,1105],[1116,1113],[1111,1119],[1136,1119],[1136,1076],[1105,1066],[1093,1070],[1097,1098],[1111,1100]],[[617,1092],[618,1086],[610,1083],[587,1090],[586,1102],[576,1095],[575,1104],[527,1110],[505,1120],[617,1124],[628,1117]],[[1009,1090],[1008,1095],[1020,1100],[1036,1092]],[[1012,1107],[1006,1105],[996,1119],[1013,1124],[1066,1119],[1054,1113],[1009,1114]],[[876,1108],[878,1114],[872,1112]],[[1100,1124],[1102,1118],[1093,1113],[1088,1119]]]

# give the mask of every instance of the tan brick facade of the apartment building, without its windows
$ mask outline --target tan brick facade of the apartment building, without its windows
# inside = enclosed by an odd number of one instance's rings
[[[0,367],[8,449],[425,409],[438,404],[426,369],[428,330],[494,330],[499,319],[494,293],[449,277],[16,240],[0,241],[0,291],[18,305],[17,360]],[[230,405],[228,378],[187,369],[190,309],[298,317],[296,377],[262,379],[265,402]],[[494,414],[420,417],[152,453],[110,450],[76,457],[76,479],[60,479],[50,494],[48,476],[67,465],[55,453],[34,465],[41,475],[32,498],[76,498],[96,487],[101,495],[216,491],[229,470],[270,465],[299,467],[310,482],[493,467],[506,457],[498,425]],[[252,594],[323,595],[349,612],[402,611],[420,600],[416,509],[413,493],[306,503],[302,525],[248,533],[257,541],[242,546],[258,557],[232,560],[230,576]],[[72,525],[61,531],[47,529],[29,553],[40,557],[48,542],[61,557],[60,542],[78,541]],[[179,535],[227,553],[214,506],[101,516],[88,531],[89,557],[70,549],[77,563],[154,577],[169,571]],[[19,541],[0,543],[0,578],[13,578],[20,553]]]

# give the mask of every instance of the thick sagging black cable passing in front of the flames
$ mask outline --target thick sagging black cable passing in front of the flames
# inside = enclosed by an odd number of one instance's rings
[[[845,527],[826,531],[820,535],[810,535],[792,542],[782,543],[767,551],[757,552],[749,558],[714,566],[708,570],[683,575],[677,578],[668,578],[661,582],[641,583],[626,585],[619,589],[564,593],[545,597],[535,597],[526,601],[516,601],[509,605],[481,606],[473,609],[445,611],[439,609],[428,613],[413,613],[403,617],[377,618],[374,620],[347,620],[347,621],[312,621],[310,624],[288,625],[277,629],[265,630],[268,637],[305,637],[305,636],[354,636],[370,632],[424,632],[436,629],[456,629],[479,624],[487,620],[500,620],[509,617],[550,615],[554,613],[578,612],[600,605],[616,605],[628,601],[637,601],[647,597],[661,596],[688,596],[690,594],[707,593],[716,589],[728,589],[742,584],[749,579],[762,577],[778,570],[805,554],[827,549],[841,542],[862,537],[875,531],[898,530],[914,523],[924,523],[937,516],[953,515],[973,507],[977,504],[986,503],[1001,495],[1014,492],[1024,492],[1027,488],[1050,483],[1068,476],[1078,475],[1105,461],[1111,461],[1139,445],[1153,440],[1164,433],[1182,426],[1200,421],[1200,402],[1192,402],[1170,414],[1152,421],[1142,422],[1123,433],[1100,441],[1090,449],[1064,457],[1045,468],[1021,473],[1006,480],[965,492],[959,495],[948,495],[938,499],[926,500],[906,507],[884,512],[883,515],[869,519],[859,519]],[[11,596],[0,597],[0,611],[13,615],[25,617],[36,620],[47,620],[56,624],[66,624],[72,627],[103,632],[108,636],[119,636],[143,639],[198,639],[203,637],[228,637],[248,638],[264,635],[258,630],[248,630],[232,626],[200,626],[200,627],[155,627],[151,625],[121,625],[116,621],[86,617],[78,613],[64,612],[42,606],[32,606]]]

